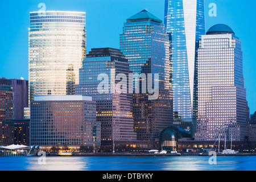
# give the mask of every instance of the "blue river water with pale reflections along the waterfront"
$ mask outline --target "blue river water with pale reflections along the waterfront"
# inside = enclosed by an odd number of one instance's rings
[[[256,171],[256,156],[2,156],[0,171]]]

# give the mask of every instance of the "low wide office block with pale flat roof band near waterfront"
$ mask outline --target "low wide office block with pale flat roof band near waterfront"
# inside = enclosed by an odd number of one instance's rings
[[[35,96],[31,102],[30,144],[100,147],[96,102],[87,96]]]

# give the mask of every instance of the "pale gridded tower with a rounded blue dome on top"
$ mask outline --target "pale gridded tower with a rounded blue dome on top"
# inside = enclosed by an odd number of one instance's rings
[[[217,24],[203,35],[198,49],[198,118],[196,140],[245,140],[246,89],[241,41]]]

